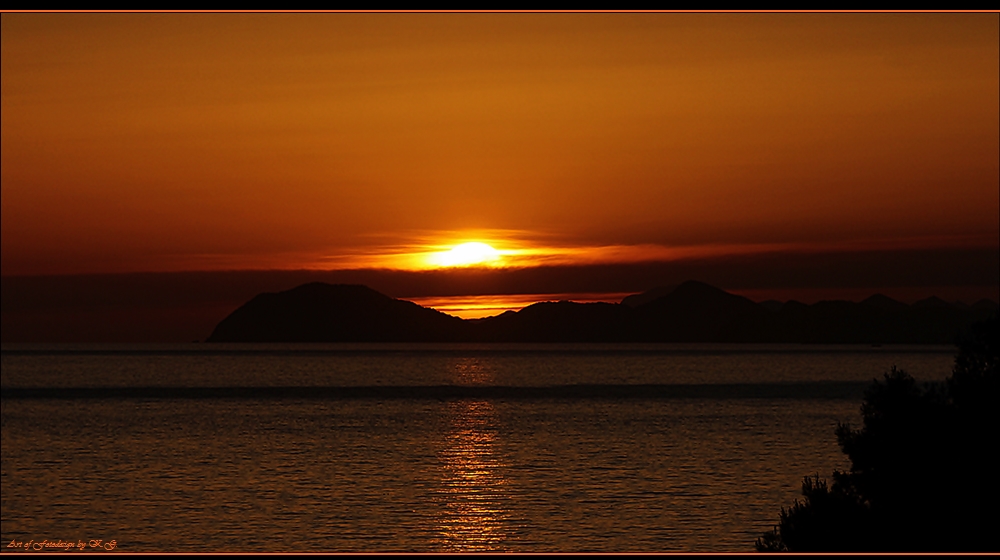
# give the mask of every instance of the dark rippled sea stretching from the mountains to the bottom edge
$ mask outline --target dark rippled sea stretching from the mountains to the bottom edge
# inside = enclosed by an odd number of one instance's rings
[[[3,345],[0,550],[751,552],[950,346]]]

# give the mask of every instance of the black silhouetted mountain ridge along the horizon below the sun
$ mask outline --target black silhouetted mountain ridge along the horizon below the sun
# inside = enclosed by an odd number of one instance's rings
[[[311,283],[259,294],[223,319],[206,342],[771,342],[952,344],[997,313],[927,298],[914,305],[876,294],[854,303],[763,304],[688,281],[622,303],[543,302],[462,320],[371,288]]]

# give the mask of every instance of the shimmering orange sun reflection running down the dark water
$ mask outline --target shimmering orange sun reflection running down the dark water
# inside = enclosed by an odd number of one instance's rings
[[[456,382],[476,384],[492,380],[492,369],[477,359],[455,364]],[[505,509],[507,480],[502,460],[494,451],[496,412],[484,400],[447,403],[452,429],[440,452],[443,508],[438,544],[453,551],[504,548],[510,537]]]

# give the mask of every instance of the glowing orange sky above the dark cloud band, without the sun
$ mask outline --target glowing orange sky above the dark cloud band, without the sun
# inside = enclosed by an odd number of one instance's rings
[[[996,13],[5,13],[0,38],[8,276],[1000,244]]]

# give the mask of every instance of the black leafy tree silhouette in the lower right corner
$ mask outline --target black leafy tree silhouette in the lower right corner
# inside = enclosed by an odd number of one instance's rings
[[[849,472],[802,484],[760,552],[1000,551],[1000,328],[976,324],[952,375],[918,384],[895,367],[875,381],[863,424],[837,428]]]

